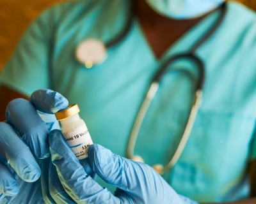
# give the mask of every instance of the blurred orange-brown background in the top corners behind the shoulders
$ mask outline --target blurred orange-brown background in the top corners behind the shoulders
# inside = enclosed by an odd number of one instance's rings
[[[29,24],[46,8],[65,1],[67,0],[0,0],[0,71]],[[236,1],[256,11],[256,0]]]

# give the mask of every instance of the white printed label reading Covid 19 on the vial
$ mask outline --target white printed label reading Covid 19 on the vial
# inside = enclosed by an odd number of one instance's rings
[[[88,157],[88,149],[93,142],[85,124],[73,131],[63,133],[63,136],[74,154],[76,154],[77,159]]]

